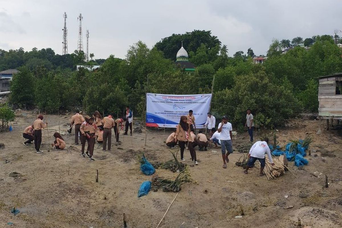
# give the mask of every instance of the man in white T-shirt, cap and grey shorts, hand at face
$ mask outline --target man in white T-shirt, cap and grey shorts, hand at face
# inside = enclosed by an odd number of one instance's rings
[[[223,159],[223,168],[227,169],[227,163],[229,162],[228,155],[233,153],[233,144],[232,144],[232,124],[228,122],[228,117],[223,116],[222,122],[219,123],[219,127],[217,131],[220,133],[221,138],[221,152]],[[226,153],[227,150],[227,153]]]

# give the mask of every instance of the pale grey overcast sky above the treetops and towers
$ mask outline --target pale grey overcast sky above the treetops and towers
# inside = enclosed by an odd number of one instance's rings
[[[139,40],[151,48],[172,33],[194,29],[211,30],[230,56],[248,48],[259,55],[266,54],[273,38],[342,30],[341,9],[341,0],[0,0],[0,49],[50,47],[61,54],[66,12],[69,53],[77,48],[77,16],[82,13],[84,51],[89,29],[89,52],[95,58],[124,58]]]

